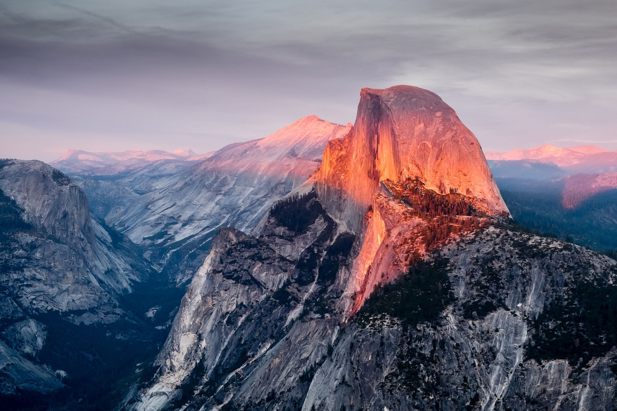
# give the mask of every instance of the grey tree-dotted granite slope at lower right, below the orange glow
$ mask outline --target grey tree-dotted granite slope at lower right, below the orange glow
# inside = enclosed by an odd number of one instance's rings
[[[395,296],[389,305],[393,291],[402,290],[396,283],[384,290],[341,333],[331,360],[315,373],[303,410],[615,406],[613,344],[604,344],[594,357],[586,351],[598,340],[586,333],[575,341],[577,332],[585,333],[576,325],[571,335],[555,339],[542,333],[567,318],[550,317],[555,312],[549,306],[584,298],[581,288],[592,283],[612,293],[615,261],[493,227],[447,246],[431,264],[440,260],[451,303],[432,322],[401,320],[407,314],[402,312],[395,319],[392,314],[400,311],[395,304],[424,309],[423,296],[413,302]],[[553,344],[565,345],[551,349]]]

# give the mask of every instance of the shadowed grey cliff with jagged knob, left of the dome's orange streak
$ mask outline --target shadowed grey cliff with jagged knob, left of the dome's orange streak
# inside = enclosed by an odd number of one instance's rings
[[[304,218],[290,224],[286,218],[297,206]],[[265,396],[266,387],[257,381],[295,385],[299,363],[309,367],[326,355],[339,325],[318,306],[345,264],[353,238],[337,233],[314,192],[275,208],[262,232],[260,238],[232,228],[219,232],[157,357],[154,384],[124,407],[173,408],[197,392],[200,401],[215,405],[230,395],[219,390],[220,384],[231,384],[233,392],[257,389],[248,397]],[[320,273],[315,260],[325,256],[331,266]],[[305,306],[313,308],[305,312]],[[300,315],[320,320],[307,330],[297,321]],[[284,338],[288,333],[295,338]],[[294,361],[271,364],[277,356]],[[249,374],[252,382],[244,380]]]

